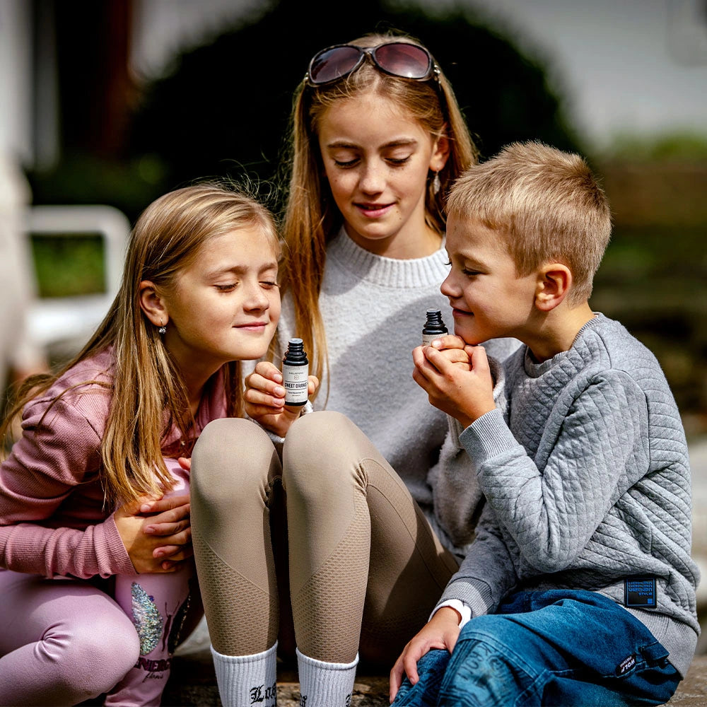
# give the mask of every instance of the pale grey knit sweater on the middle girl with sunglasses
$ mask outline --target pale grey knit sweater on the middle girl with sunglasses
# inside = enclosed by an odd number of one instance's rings
[[[440,293],[449,272],[443,248],[428,257],[401,260],[374,255],[356,245],[342,228],[327,246],[320,291],[320,310],[327,334],[329,378],[322,380],[314,409],[345,414],[366,433],[375,448],[399,474],[412,497],[450,550],[461,544],[445,537],[432,513],[434,477],[460,476],[468,466],[463,450],[447,445],[445,414],[429,404],[427,394],[412,379],[412,349],[422,343],[428,308],[438,308],[452,331],[452,310]],[[293,331],[293,307],[282,303],[277,329],[280,351]],[[491,356],[503,360],[520,342],[497,339],[486,344]],[[276,361],[276,363],[278,363]],[[327,383],[329,398],[327,400]],[[457,503],[469,518],[481,491],[467,493]]]

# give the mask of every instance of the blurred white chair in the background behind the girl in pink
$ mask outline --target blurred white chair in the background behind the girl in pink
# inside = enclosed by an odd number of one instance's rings
[[[103,238],[105,292],[37,298],[30,309],[30,335],[47,351],[74,354],[105,317],[120,286],[130,233],[127,217],[113,206],[30,206],[25,230],[31,234]]]

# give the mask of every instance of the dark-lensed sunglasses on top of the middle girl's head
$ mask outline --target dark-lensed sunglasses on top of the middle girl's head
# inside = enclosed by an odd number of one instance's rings
[[[409,42],[385,42],[377,47],[334,45],[317,52],[310,62],[305,83],[325,86],[340,81],[356,71],[366,57],[385,74],[411,78],[414,81],[439,80],[440,69],[430,52]]]

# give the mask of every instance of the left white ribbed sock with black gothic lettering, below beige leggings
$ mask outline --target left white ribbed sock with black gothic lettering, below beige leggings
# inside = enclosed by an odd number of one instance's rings
[[[274,707],[277,641],[272,648],[254,655],[221,655],[212,645],[211,655],[223,707]]]

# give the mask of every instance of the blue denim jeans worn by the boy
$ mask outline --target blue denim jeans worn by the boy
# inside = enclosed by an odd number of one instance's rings
[[[680,682],[641,621],[596,592],[516,592],[431,650],[394,706],[658,705]]]

